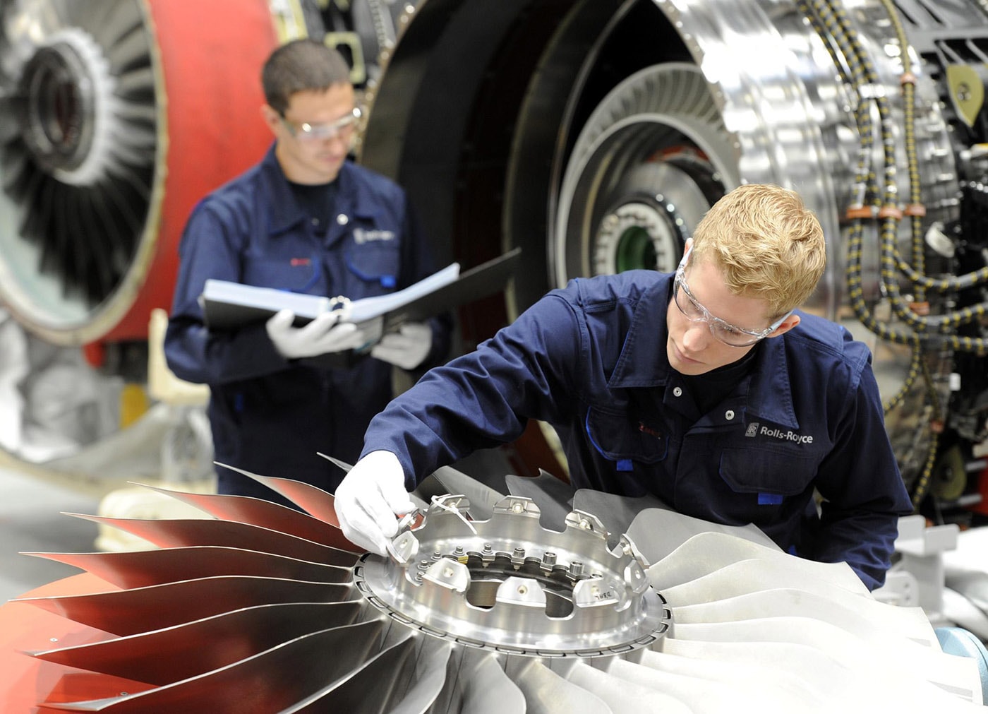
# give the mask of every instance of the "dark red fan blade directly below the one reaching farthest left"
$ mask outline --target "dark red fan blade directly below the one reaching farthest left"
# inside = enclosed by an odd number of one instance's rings
[[[145,634],[28,654],[149,684],[171,684],[310,632],[352,625],[360,611],[356,601],[258,605]],[[204,642],[209,646],[197,646]]]

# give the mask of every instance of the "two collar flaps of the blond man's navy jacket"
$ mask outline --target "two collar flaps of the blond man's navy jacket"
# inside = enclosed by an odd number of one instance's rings
[[[672,298],[675,273],[663,274],[638,301],[624,337],[615,370],[608,381],[612,389],[664,386],[676,372],[669,364],[666,312]],[[743,397],[746,411],[786,427],[798,428],[789,386],[785,336],[769,337],[751,369]]]

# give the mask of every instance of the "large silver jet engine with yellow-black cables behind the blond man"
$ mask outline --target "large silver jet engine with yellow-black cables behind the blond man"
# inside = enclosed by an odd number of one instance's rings
[[[983,3],[427,0],[399,25],[362,160],[455,258],[523,248],[507,318],[673,270],[739,183],[795,189],[829,246],[807,309],[871,346],[914,502],[988,512]]]

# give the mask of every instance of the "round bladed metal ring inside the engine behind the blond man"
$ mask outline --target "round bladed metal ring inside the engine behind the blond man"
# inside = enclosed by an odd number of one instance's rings
[[[631,75],[598,105],[567,163],[549,251],[556,286],[622,266],[673,270],[703,213],[737,182],[700,69],[669,62]]]

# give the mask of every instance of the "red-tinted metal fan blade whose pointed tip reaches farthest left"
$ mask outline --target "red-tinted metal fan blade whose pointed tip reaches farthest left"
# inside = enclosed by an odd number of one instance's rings
[[[56,615],[115,635],[159,630],[241,607],[279,602],[343,602],[351,585],[275,578],[220,576],[129,590],[62,597],[24,597]]]

